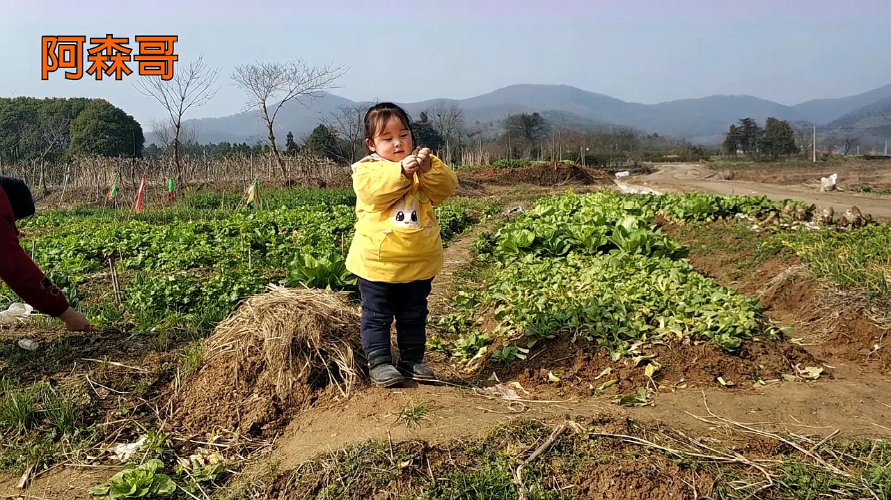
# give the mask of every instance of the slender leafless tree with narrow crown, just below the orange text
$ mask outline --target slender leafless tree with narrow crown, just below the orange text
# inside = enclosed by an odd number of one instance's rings
[[[219,72],[219,69],[209,68],[204,63],[204,56],[201,55],[196,61],[177,69],[174,77],[169,80],[143,77],[135,85],[136,90],[154,97],[168,112],[169,127],[172,129],[170,143],[173,144],[176,181],[180,186],[183,185],[183,167],[179,159],[183,117],[190,109],[207,104],[217,95],[219,87],[214,87],[217,85]]]

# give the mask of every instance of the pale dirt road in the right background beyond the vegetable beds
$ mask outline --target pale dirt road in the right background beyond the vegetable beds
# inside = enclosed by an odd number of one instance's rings
[[[856,205],[864,214],[891,219],[891,198],[869,194],[846,192],[820,193],[819,189],[805,184],[764,184],[751,181],[724,181],[715,178],[715,172],[697,164],[661,164],[658,172],[649,176],[635,176],[617,182],[619,186],[645,187],[657,193],[683,193],[698,191],[717,194],[755,194],[772,200],[801,200],[820,208],[832,206],[836,213]],[[709,178],[711,176],[711,178]],[[819,178],[817,179],[819,180]]]

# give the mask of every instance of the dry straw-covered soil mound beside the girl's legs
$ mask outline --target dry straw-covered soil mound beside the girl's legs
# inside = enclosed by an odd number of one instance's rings
[[[359,383],[359,315],[342,294],[271,287],[208,339],[204,365],[176,395],[174,422],[261,435]]]

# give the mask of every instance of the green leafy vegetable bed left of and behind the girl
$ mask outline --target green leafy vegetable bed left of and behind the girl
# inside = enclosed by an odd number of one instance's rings
[[[199,193],[140,215],[53,211],[21,225],[22,244],[94,323],[116,329],[206,332],[267,283],[355,288],[344,265],[355,223],[351,190],[271,191],[259,210],[237,208],[239,201]],[[443,240],[496,210],[485,201],[437,207]]]

